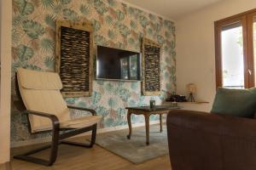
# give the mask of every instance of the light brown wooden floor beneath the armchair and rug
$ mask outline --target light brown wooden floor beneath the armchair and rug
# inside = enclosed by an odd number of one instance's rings
[[[12,154],[28,149],[32,148],[15,149],[12,150]],[[45,157],[48,156],[48,153],[49,150],[44,150],[37,156]],[[11,170],[171,170],[168,156],[158,157],[135,165],[96,144],[91,149],[61,144],[57,161],[52,167],[44,167],[15,159],[11,160],[11,167]]]

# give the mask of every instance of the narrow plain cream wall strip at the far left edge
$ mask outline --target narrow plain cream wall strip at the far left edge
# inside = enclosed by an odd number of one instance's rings
[[[9,161],[12,1],[0,0],[0,164]]]

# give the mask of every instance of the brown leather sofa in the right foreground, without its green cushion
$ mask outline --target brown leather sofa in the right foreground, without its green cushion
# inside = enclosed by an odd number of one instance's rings
[[[167,116],[172,170],[256,170],[256,120],[199,111]]]

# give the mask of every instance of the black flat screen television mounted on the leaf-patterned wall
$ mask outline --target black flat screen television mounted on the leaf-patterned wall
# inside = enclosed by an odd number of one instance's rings
[[[97,46],[96,79],[141,80],[141,54]]]

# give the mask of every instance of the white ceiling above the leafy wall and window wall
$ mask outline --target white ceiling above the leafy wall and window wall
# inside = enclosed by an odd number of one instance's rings
[[[176,20],[200,8],[224,0],[123,0],[140,8],[148,9],[169,19]]]

